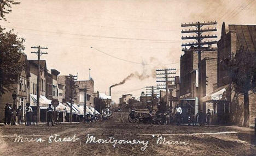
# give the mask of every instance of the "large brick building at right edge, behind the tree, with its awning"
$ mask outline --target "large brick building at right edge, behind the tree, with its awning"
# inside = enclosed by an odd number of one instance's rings
[[[222,25],[222,36],[218,41],[218,60],[217,60],[217,85],[206,100],[209,108],[213,109],[218,123],[243,123],[243,95],[231,90],[229,67],[225,63],[226,58],[232,58],[241,46],[250,52],[255,51],[256,26],[250,25],[229,25],[226,30],[225,23]],[[249,123],[254,124],[256,116],[256,95],[249,92]],[[207,108],[206,108],[207,109]]]

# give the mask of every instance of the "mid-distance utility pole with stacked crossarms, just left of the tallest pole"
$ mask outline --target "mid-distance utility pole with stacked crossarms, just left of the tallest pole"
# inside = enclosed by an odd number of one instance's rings
[[[174,71],[174,72],[169,72]],[[170,109],[170,103],[169,103],[169,96],[168,96],[168,82],[174,82],[174,76],[169,76],[169,74],[176,74],[175,68],[170,69],[162,69],[162,70],[156,70],[156,75],[159,75],[160,77],[156,77],[156,82],[164,82],[164,84],[157,84],[159,87],[158,89],[165,89],[166,90],[166,105],[168,106],[168,109]],[[172,78],[172,80],[170,80]]]

